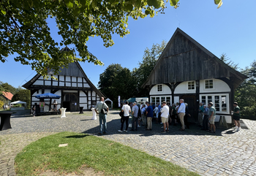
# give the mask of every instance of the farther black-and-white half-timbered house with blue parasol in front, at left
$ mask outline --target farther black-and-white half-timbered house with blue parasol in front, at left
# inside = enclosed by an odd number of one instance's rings
[[[69,50],[64,47],[63,51]],[[80,107],[83,110],[90,110],[92,106],[99,102],[100,97],[105,97],[89,80],[82,67],[78,62],[70,63],[68,68],[60,69],[58,75],[53,72],[48,72],[48,79],[44,79],[42,75],[35,75],[29,82],[23,85],[23,88],[31,91],[31,106],[34,104],[39,105],[39,99],[35,96],[42,93],[55,93],[61,96],[56,99],[58,102],[57,110],[61,107],[67,108],[67,111],[79,111]],[[50,77],[56,77],[54,80]],[[52,108],[53,99],[45,99],[44,111],[49,111]]]

